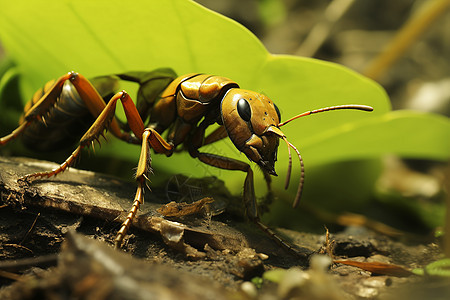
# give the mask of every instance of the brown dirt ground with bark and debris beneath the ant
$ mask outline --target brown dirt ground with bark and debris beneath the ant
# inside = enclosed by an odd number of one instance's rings
[[[135,186],[76,169],[55,179],[17,182],[55,166],[0,158],[1,299],[423,299],[430,293],[444,299],[450,291],[448,281],[409,272],[437,260],[437,244],[392,239],[363,227],[328,240],[325,230],[277,229],[294,254],[242,215],[163,217],[156,210],[167,200],[158,189],[123,249],[114,250]],[[213,199],[229,197],[220,181],[202,180]],[[330,257],[395,270],[367,271],[332,264]]]

